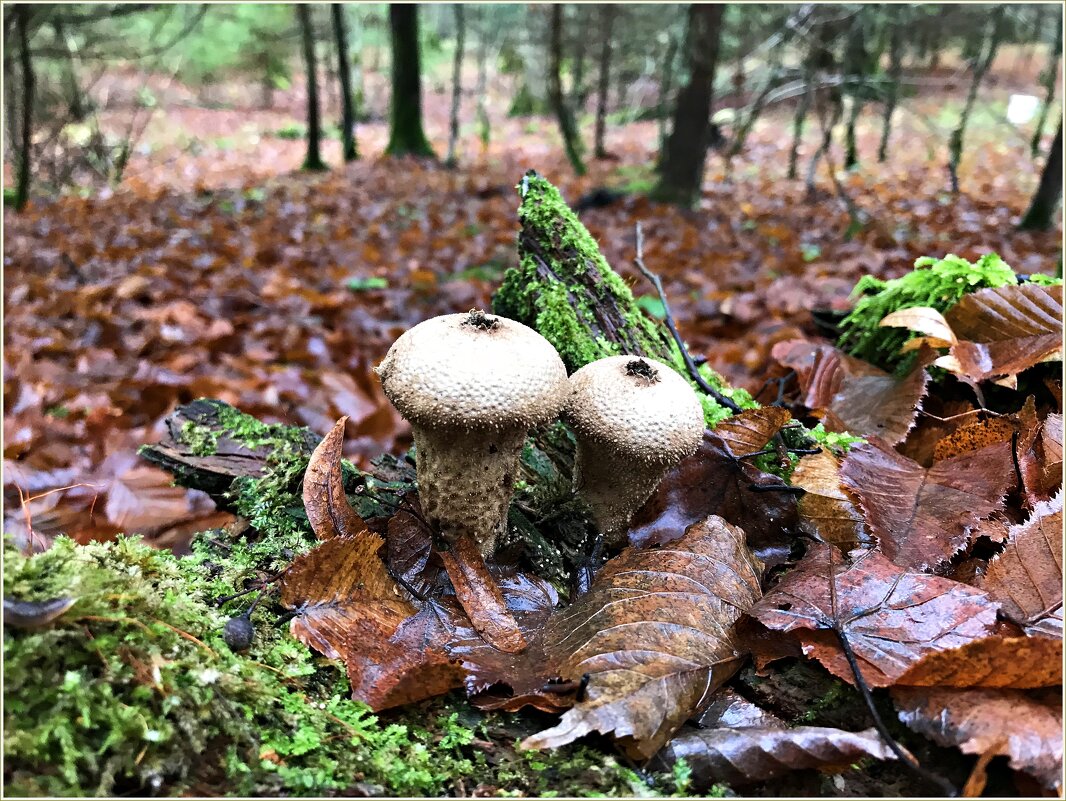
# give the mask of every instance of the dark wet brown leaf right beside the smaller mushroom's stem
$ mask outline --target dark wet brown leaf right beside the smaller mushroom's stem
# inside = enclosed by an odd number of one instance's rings
[[[766,440],[774,433],[769,431]],[[737,429],[727,435],[733,442],[740,440]],[[741,454],[752,452],[746,450],[752,436],[745,434],[743,439],[745,450]],[[782,486],[781,480],[736,456],[716,431],[706,432],[699,450],[666,474],[655,495],[637,512],[629,529],[629,542],[635,547],[668,543],[689,526],[717,515],[747,532],[748,544],[764,563],[784,561],[790,543],[788,529],[796,519],[795,496],[766,490]]]

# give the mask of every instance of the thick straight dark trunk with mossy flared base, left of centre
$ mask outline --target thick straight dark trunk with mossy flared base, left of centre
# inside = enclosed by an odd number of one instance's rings
[[[392,35],[392,122],[389,156],[434,156],[422,129],[422,64],[418,44],[418,6],[389,3]]]

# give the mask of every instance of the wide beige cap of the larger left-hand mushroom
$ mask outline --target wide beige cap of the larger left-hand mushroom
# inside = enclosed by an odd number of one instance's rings
[[[377,367],[382,387],[411,423],[530,428],[566,399],[566,367],[533,329],[504,317],[443,315],[405,332]]]

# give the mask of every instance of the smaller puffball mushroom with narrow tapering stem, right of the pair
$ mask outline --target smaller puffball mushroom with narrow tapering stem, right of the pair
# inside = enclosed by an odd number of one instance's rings
[[[666,471],[696,452],[704,410],[688,382],[650,358],[611,356],[570,377],[563,417],[578,439],[574,488],[609,545]]]

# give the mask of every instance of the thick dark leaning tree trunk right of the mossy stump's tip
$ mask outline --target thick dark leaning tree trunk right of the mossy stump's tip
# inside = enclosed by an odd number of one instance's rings
[[[721,3],[689,6],[689,82],[677,98],[674,128],[666,139],[659,182],[651,192],[656,199],[687,207],[699,199],[711,139],[711,103],[724,9]]]

